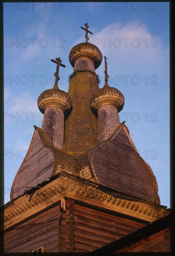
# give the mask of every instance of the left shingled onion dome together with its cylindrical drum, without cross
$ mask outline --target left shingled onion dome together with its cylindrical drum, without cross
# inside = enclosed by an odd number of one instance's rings
[[[64,143],[65,117],[71,111],[72,104],[69,95],[55,85],[45,90],[38,98],[38,107],[44,114],[42,129],[55,148],[62,149]]]

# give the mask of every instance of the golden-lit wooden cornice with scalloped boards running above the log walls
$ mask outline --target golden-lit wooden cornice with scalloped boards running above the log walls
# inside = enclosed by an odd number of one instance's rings
[[[84,179],[73,175],[60,173],[57,179],[47,183],[33,194],[21,195],[10,205],[6,205],[4,209],[4,229],[24,221],[65,197],[147,222],[153,222],[169,215],[169,210],[163,209],[159,205],[137,201],[136,199],[125,199],[117,193],[104,191],[97,184],[84,181]]]

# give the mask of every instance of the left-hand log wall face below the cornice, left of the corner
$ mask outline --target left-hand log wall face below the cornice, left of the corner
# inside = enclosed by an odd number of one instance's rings
[[[58,251],[59,209],[56,205],[7,231],[5,252],[32,252],[43,245],[46,252]]]

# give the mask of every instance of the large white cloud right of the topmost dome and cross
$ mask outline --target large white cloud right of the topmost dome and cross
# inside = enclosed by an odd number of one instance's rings
[[[162,40],[135,20],[125,26],[115,23],[104,27],[90,42],[107,56],[109,73],[127,70],[137,73],[141,68],[146,68],[148,73],[153,67],[161,73],[168,62],[169,49],[163,46]]]

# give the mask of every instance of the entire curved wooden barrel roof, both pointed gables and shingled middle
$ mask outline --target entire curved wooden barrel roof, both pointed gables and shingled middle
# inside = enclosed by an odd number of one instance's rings
[[[156,177],[138,154],[128,128],[121,123],[110,138],[77,158],[58,150],[36,127],[24,161],[14,179],[11,199],[58,172],[99,183],[120,193],[160,203]]]

